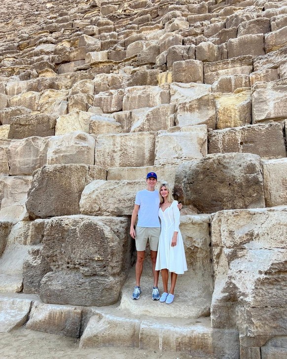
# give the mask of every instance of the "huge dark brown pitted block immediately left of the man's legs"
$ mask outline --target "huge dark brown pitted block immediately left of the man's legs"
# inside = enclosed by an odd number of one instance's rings
[[[53,272],[41,281],[41,300],[84,306],[116,302],[131,265],[128,228],[127,218],[119,217],[77,215],[47,221],[43,255]]]

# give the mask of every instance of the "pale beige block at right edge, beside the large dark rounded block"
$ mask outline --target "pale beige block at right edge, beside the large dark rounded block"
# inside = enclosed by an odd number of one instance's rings
[[[287,205],[286,175],[286,158],[263,162],[266,207]]]

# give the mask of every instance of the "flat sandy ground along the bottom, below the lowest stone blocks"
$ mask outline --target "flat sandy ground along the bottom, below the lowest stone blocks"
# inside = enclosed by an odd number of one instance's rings
[[[79,348],[78,340],[20,328],[0,333],[0,359],[196,359],[138,348]]]

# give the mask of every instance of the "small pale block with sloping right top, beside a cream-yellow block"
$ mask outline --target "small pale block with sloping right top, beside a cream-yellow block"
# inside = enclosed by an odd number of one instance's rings
[[[89,122],[89,133],[92,135],[121,133],[122,125],[113,118],[101,115],[92,115]]]

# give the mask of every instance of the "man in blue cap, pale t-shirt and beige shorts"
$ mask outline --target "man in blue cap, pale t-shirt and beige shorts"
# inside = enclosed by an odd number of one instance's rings
[[[160,235],[160,222],[158,217],[159,193],[155,190],[157,176],[154,172],[146,175],[146,189],[139,191],[136,195],[135,207],[132,213],[130,235],[136,240],[137,262],[136,262],[136,286],[132,295],[133,299],[139,299],[141,290],[141,276],[144,265],[144,252],[147,241],[150,247],[150,259],[152,262],[153,288],[152,300],[160,298],[158,290],[159,271],[155,270],[158,241]],[[181,209],[182,205],[179,205]],[[135,222],[138,216],[138,224]]]

